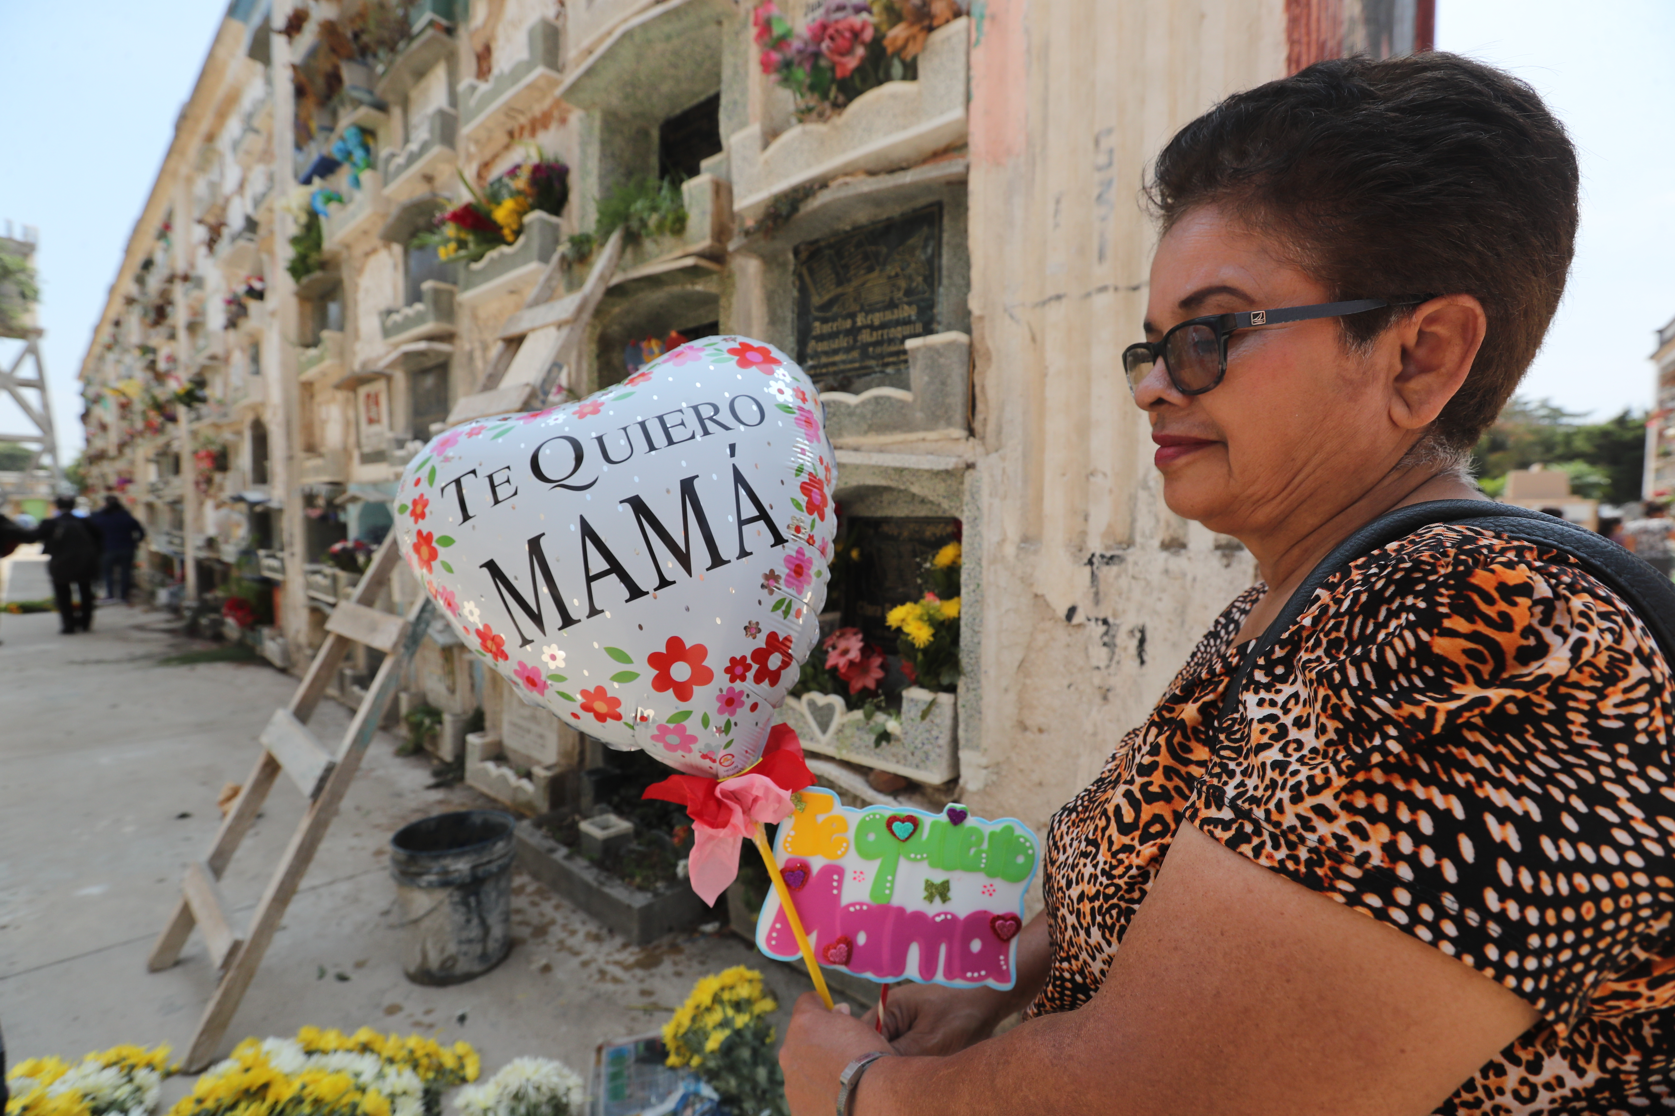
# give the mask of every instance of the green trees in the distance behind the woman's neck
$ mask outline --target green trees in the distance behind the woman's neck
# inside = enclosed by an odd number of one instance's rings
[[[1569,474],[1571,492],[1606,504],[1640,499],[1645,417],[1625,410],[1600,423],[1578,422],[1551,400],[1514,398],[1472,448],[1482,490],[1499,497],[1506,474],[1544,463]]]

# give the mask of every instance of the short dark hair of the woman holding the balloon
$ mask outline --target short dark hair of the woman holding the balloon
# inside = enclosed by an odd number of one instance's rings
[[[1226,206],[1276,234],[1332,298],[1474,294],[1489,328],[1432,438],[1469,450],[1513,395],[1564,293],[1576,151],[1523,80],[1454,54],[1333,59],[1234,94],[1157,156],[1164,228]],[[1342,318],[1352,345],[1399,310]]]

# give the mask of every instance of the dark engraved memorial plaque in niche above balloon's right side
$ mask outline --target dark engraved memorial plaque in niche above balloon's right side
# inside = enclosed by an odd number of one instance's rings
[[[936,333],[941,206],[796,251],[797,360],[822,392],[908,387],[908,338]]]

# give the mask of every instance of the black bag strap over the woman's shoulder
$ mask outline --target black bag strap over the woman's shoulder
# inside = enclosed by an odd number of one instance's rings
[[[1240,663],[1240,669],[1234,673],[1233,681],[1228,684],[1228,693],[1221,701],[1219,718],[1226,718],[1238,704],[1240,694],[1245,691],[1245,681],[1256,659],[1266,654],[1291,629],[1315,599],[1315,591],[1328,577],[1355,559],[1365,557],[1397,539],[1405,539],[1415,530],[1435,524],[1482,527],[1509,539],[1523,539],[1524,542],[1534,542],[1569,554],[1581,566],[1583,572],[1615,592],[1635,611],[1635,616],[1640,617],[1657,641],[1658,651],[1663,653],[1663,661],[1675,664],[1675,584],[1642,559],[1586,527],[1578,527],[1544,512],[1533,512],[1511,504],[1486,504],[1482,500],[1429,500],[1385,512],[1340,542],[1332,554],[1322,559],[1320,566],[1310,571],[1303,584],[1296,587],[1296,592],[1280,609],[1280,616],[1253,641],[1255,646],[1250,649],[1250,654]]]

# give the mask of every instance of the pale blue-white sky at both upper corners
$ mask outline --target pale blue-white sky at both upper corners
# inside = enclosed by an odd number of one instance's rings
[[[1037,0],[1040,3],[1040,0]],[[0,221],[40,228],[40,318],[59,442],[82,443],[75,373],[224,0],[0,0]],[[1531,82],[1581,149],[1576,264],[1523,392],[1606,418],[1652,398],[1675,318],[1675,3],[1437,0],[1437,47]],[[17,341],[0,340],[10,366]],[[22,418],[0,403],[0,430]]]

